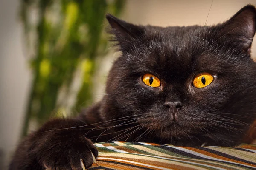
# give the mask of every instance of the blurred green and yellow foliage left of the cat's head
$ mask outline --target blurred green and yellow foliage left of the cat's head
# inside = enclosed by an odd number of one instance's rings
[[[80,111],[92,101],[96,57],[107,53],[103,21],[119,15],[124,0],[22,0],[33,80],[23,136],[30,122]]]

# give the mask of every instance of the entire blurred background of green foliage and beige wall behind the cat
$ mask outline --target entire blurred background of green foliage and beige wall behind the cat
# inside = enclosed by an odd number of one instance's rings
[[[107,12],[135,24],[212,25],[249,3],[256,0],[0,0],[0,169],[47,119],[102,98],[120,55],[107,41]]]

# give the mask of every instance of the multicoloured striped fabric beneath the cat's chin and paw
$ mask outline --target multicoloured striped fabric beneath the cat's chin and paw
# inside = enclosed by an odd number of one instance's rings
[[[105,142],[89,170],[256,170],[256,145],[175,147]]]

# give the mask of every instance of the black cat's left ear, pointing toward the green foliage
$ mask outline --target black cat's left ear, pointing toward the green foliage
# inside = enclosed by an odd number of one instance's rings
[[[107,14],[106,18],[112,28],[110,33],[115,35],[113,41],[118,42],[121,50],[128,50],[127,48],[142,40],[145,27],[127,23],[111,14]]]

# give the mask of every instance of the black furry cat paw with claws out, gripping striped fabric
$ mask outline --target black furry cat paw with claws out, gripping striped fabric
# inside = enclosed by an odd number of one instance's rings
[[[89,139],[57,141],[49,140],[36,149],[38,161],[47,170],[85,170],[96,162],[98,150]]]

